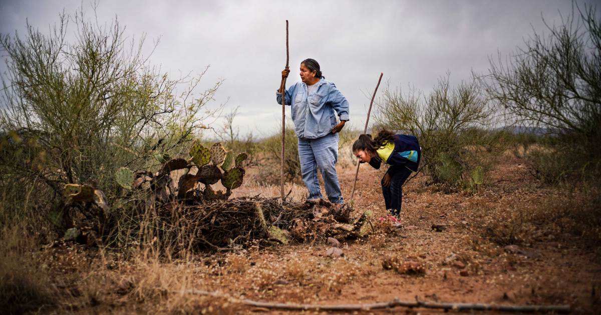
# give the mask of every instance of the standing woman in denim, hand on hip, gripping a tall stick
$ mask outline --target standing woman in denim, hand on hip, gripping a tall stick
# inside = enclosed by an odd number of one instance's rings
[[[288,77],[290,70],[282,71]],[[285,91],[286,105],[291,106],[294,132],[298,137],[302,179],[309,191],[308,199],[321,199],[317,168],[322,170],[328,199],[343,203],[336,161],[338,160],[338,132],[349,121],[349,102],[334,85],[326,81],[314,59],[301,62],[301,82]],[[282,94],[276,94],[282,104]],[[337,116],[340,118],[338,122]]]

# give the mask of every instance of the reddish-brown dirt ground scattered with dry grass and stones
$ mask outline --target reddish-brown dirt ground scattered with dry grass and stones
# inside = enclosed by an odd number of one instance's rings
[[[236,253],[169,261],[156,259],[151,252],[121,259],[63,245],[42,250],[40,268],[60,292],[68,292],[72,308],[64,310],[75,313],[291,313],[199,296],[192,289],[282,303],[361,304],[398,298],[568,304],[576,314],[601,313],[599,253],[566,224],[555,222],[563,220],[558,212],[569,211],[578,205],[574,200],[590,192],[543,187],[522,163],[508,158],[489,172],[487,185],[475,193],[445,193],[424,187],[423,178],[412,179],[404,187],[403,227],[375,224],[376,232],[369,238],[342,242],[343,257],[323,256],[328,249],[323,241],[251,246]],[[354,175],[354,167],[339,170],[347,200]],[[356,214],[385,213],[381,176],[380,171],[361,167]],[[297,194],[302,196],[302,191]],[[433,224],[444,224],[445,229],[437,232]],[[386,270],[382,267],[386,257],[421,263],[425,272]],[[397,307],[359,313],[443,311]]]

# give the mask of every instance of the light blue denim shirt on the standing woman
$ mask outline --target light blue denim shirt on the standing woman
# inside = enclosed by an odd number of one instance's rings
[[[286,105],[292,106],[294,131],[299,138],[316,139],[330,133],[338,123],[336,113],[341,121],[349,120],[349,101],[336,85],[324,79],[315,84],[317,91],[310,97],[307,97],[307,85],[302,82],[296,82],[285,92]],[[276,100],[282,104],[281,93],[276,92]]]

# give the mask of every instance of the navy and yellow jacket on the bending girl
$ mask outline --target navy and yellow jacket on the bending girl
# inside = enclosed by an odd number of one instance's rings
[[[417,137],[409,134],[397,134],[394,143],[385,142],[382,147],[376,149],[378,158],[372,158],[370,165],[376,169],[380,168],[380,161],[389,164],[389,175],[394,175],[401,167],[417,172],[419,160],[421,160],[421,148]]]

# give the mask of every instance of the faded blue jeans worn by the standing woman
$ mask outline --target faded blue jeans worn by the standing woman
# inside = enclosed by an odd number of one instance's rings
[[[338,160],[338,134],[326,134],[317,139],[299,138],[299,160],[302,180],[309,191],[308,199],[321,199],[322,188],[317,179],[317,168],[322,170],[328,199],[332,203],[343,203],[336,161]]]

